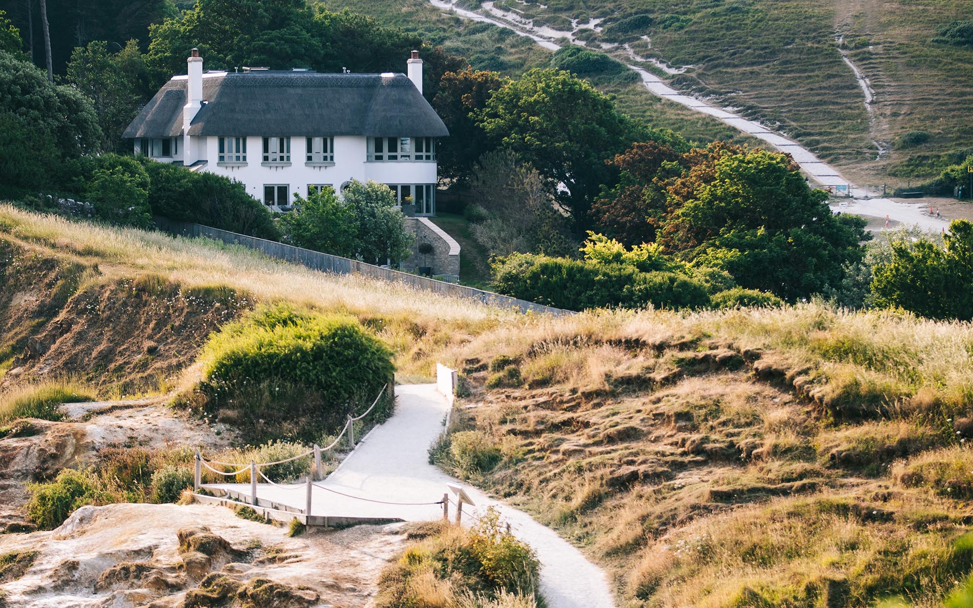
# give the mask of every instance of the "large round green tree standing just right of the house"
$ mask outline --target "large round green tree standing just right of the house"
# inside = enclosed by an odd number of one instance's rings
[[[552,69],[532,69],[497,89],[479,117],[494,142],[531,162],[552,190],[562,186],[556,197],[577,232],[588,227],[590,201],[614,181],[605,161],[649,134],[589,83]]]

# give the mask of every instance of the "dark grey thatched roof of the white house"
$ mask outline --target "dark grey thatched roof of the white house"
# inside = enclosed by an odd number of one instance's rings
[[[123,137],[182,132],[185,76],[166,83]],[[205,74],[190,135],[441,137],[449,131],[403,74],[245,72]]]

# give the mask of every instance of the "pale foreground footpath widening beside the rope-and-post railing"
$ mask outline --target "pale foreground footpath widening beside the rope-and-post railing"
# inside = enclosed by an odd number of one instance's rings
[[[589,561],[550,528],[429,464],[428,448],[443,432],[450,405],[435,384],[396,386],[395,413],[378,425],[322,483],[314,486],[312,515],[360,518],[401,518],[422,521],[442,518],[439,505],[397,506],[356,500],[337,494],[386,502],[419,503],[441,500],[448,485],[460,486],[476,503],[463,506],[469,523],[494,507],[502,521],[511,523],[515,536],[529,544],[541,562],[539,586],[550,608],[611,608],[615,605],[604,571]],[[249,484],[207,484],[249,494]],[[334,491],[329,491],[330,490]],[[261,499],[303,508],[306,486],[293,489],[258,485]],[[450,492],[450,496],[451,496]],[[450,505],[450,519],[455,507]],[[472,517],[471,517],[472,516]]]

